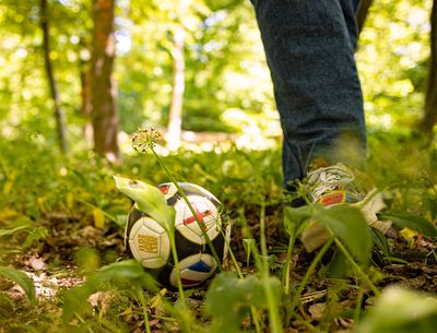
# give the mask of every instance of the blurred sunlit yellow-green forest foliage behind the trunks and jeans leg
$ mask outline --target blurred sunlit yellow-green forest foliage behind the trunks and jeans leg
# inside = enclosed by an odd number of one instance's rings
[[[378,0],[367,13],[356,60],[370,133],[411,131],[424,116],[430,10],[430,0]],[[72,152],[91,148],[92,139],[83,133],[93,117],[86,96],[93,7],[91,1],[59,0],[48,1],[46,11],[48,61],[64,115],[66,140]],[[29,136],[39,145],[55,146],[58,135],[40,13],[40,1],[0,4],[0,128],[3,140]],[[144,126],[167,127],[175,88],[175,36],[182,34],[182,129],[281,134],[249,1],[120,0],[114,28],[113,79],[122,133]],[[122,145],[126,135],[119,138]]]

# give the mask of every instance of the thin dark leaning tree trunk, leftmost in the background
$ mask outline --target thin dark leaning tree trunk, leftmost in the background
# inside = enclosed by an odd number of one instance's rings
[[[50,87],[51,98],[54,100],[54,116],[56,120],[59,147],[62,154],[66,154],[68,151],[66,117],[60,107],[58,86],[55,81],[54,69],[50,59],[50,35],[48,23],[49,16],[47,11],[47,0],[40,0],[40,27],[43,29],[44,63],[46,68],[48,84]]]

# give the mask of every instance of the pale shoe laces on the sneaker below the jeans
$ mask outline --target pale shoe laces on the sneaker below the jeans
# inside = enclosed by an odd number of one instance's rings
[[[354,179],[355,177],[352,171],[339,163],[309,173],[307,188],[309,189],[312,202],[317,202],[326,192],[344,188],[354,181]]]

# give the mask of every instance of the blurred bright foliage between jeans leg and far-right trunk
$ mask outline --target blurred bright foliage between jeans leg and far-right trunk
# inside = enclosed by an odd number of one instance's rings
[[[357,64],[370,127],[414,128],[422,116],[432,1],[374,1]]]

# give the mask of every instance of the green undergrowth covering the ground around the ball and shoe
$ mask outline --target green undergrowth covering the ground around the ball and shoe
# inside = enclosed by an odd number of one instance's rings
[[[299,226],[320,212],[293,211],[284,225],[279,147],[181,150],[160,159],[128,156],[122,165],[113,166],[87,154],[64,159],[31,139],[1,142],[0,267],[9,267],[8,272],[13,267],[21,277],[26,272],[36,299],[28,300],[12,283],[19,277],[0,277],[0,332],[264,332],[268,326],[271,332],[352,332],[364,330],[366,323],[378,328],[382,319],[367,305],[385,301],[388,281],[408,278],[390,276],[386,267],[392,269],[392,261],[387,254],[394,255],[400,248],[401,253],[412,248],[433,251],[437,154],[435,146],[422,148],[421,142],[395,133],[374,133],[369,146],[367,173],[383,191],[385,214],[403,218],[425,236],[411,231],[406,238],[371,239],[377,245],[371,254],[351,247],[347,237],[333,228],[330,245],[311,258],[298,241]],[[231,249],[238,270],[225,265],[227,272],[184,293],[156,288],[153,277],[129,261],[122,248],[131,202],[116,190],[113,175],[152,185],[167,182],[162,164],[178,181],[194,182],[216,194],[234,225]],[[353,233],[346,230],[346,236]],[[245,239],[246,245],[255,239],[249,265]],[[328,263],[329,253],[345,260],[338,260],[340,265],[335,260]],[[362,260],[370,257],[379,261]],[[421,264],[434,267],[432,258]],[[402,260],[406,270],[409,258]],[[19,285],[33,295],[28,282]],[[402,297],[415,299],[410,294]],[[430,306],[425,312],[434,311]],[[425,312],[424,322],[429,319]],[[394,322],[401,328],[412,321]],[[373,332],[389,332],[385,328]]]

